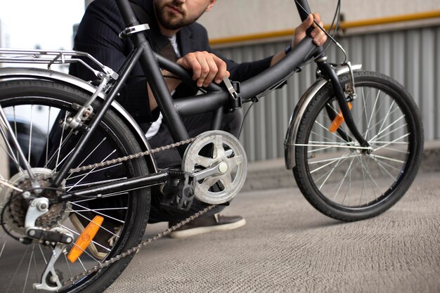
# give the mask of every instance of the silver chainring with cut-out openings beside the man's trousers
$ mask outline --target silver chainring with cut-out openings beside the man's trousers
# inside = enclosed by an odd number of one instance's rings
[[[195,178],[195,198],[208,204],[223,204],[245,184],[245,149],[225,131],[207,131],[186,149],[182,170]]]

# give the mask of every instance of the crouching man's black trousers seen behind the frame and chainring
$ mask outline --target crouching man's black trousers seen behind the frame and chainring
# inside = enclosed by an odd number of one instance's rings
[[[186,129],[188,130],[188,134],[191,138],[198,136],[198,134],[202,134],[205,131],[209,131],[211,121],[212,113],[203,113],[200,115],[193,115],[183,118],[183,123],[185,124]],[[233,134],[233,136],[237,137],[240,131],[241,123],[242,114],[240,111],[228,113],[224,115],[221,130],[227,131],[230,134]],[[171,134],[169,134],[169,129],[167,125],[164,124],[164,122],[162,122],[162,125],[160,126],[157,134],[153,136],[153,138],[150,138],[149,143],[152,148],[157,148],[162,145],[169,145],[170,143],[173,143]],[[154,156],[157,162],[157,167],[159,168],[181,166],[182,158],[176,149],[157,152]],[[188,216],[195,214],[201,209],[209,206],[209,204],[205,204],[204,202],[200,202],[199,200],[194,199],[189,211],[170,211],[160,206],[161,197],[162,194],[157,192],[157,190],[153,188],[151,195],[150,218],[148,221],[149,223],[157,223],[161,221],[181,221],[188,218]],[[213,214],[216,214],[225,207],[226,206],[224,205],[217,206],[214,209],[208,211],[203,216],[211,216]]]

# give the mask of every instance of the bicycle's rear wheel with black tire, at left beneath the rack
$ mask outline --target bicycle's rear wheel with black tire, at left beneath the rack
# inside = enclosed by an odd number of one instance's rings
[[[27,162],[44,188],[50,185],[54,173],[60,169],[66,157],[81,136],[72,129],[63,130],[58,120],[65,121],[68,114],[78,110],[89,98],[86,93],[70,86],[40,80],[14,80],[0,82],[0,105],[4,108],[8,122],[18,137],[20,148]],[[92,105],[98,109],[98,102]],[[22,131],[25,129],[25,131]],[[53,253],[53,247],[32,242],[29,245],[18,242],[23,237],[27,202],[11,186],[30,188],[23,162],[17,159],[16,149],[11,141],[0,138],[0,152],[7,155],[6,168],[0,169],[0,292],[41,292],[33,287],[41,282],[41,275]],[[5,145],[5,146],[2,146]],[[7,145],[11,146],[10,152]],[[119,117],[109,110],[93,134],[86,152],[75,160],[75,166],[103,162],[140,152],[134,134]],[[4,164],[2,162],[2,164]],[[75,190],[98,186],[110,181],[133,178],[148,174],[143,157],[126,162],[98,167],[88,171],[68,174],[63,181],[63,190]],[[21,193],[20,193],[21,194]],[[93,266],[138,245],[148,221],[150,190],[141,188],[121,193],[105,194],[102,199],[81,199],[72,202],[51,204],[48,214],[37,219],[41,228],[64,229],[74,235],[75,240],[94,216],[103,216],[104,222],[79,260],[67,261],[67,253],[61,254],[54,268],[64,281],[79,275]],[[67,251],[72,245],[66,247]],[[132,256],[112,263],[98,273],[86,275],[74,283],[63,285],[60,292],[102,292],[119,276]],[[61,280],[61,282],[63,282]],[[53,282],[48,280],[48,282]],[[55,286],[56,284],[53,283]]]

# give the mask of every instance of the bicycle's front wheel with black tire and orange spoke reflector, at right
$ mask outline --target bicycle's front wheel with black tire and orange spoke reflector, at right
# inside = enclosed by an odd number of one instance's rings
[[[383,74],[355,72],[354,80],[351,115],[372,150],[365,152],[344,122],[329,130],[340,110],[327,84],[299,124],[293,169],[306,200],[342,221],[377,216],[398,202],[418,172],[423,150],[420,112],[410,94]],[[340,81],[344,88],[349,75]]]

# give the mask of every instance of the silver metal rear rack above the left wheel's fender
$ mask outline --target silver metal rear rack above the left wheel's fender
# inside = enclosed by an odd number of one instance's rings
[[[103,72],[94,70],[81,58],[88,58],[98,65]],[[118,78],[118,74],[110,67],[103,65],[89,53],[81,51],[0,48],[0,63],[47,64],[48,70],[51,70],[51,66],[54,64],[81,63],[91,70],[96,77],[108,74],[112,79],[116,80]]]

